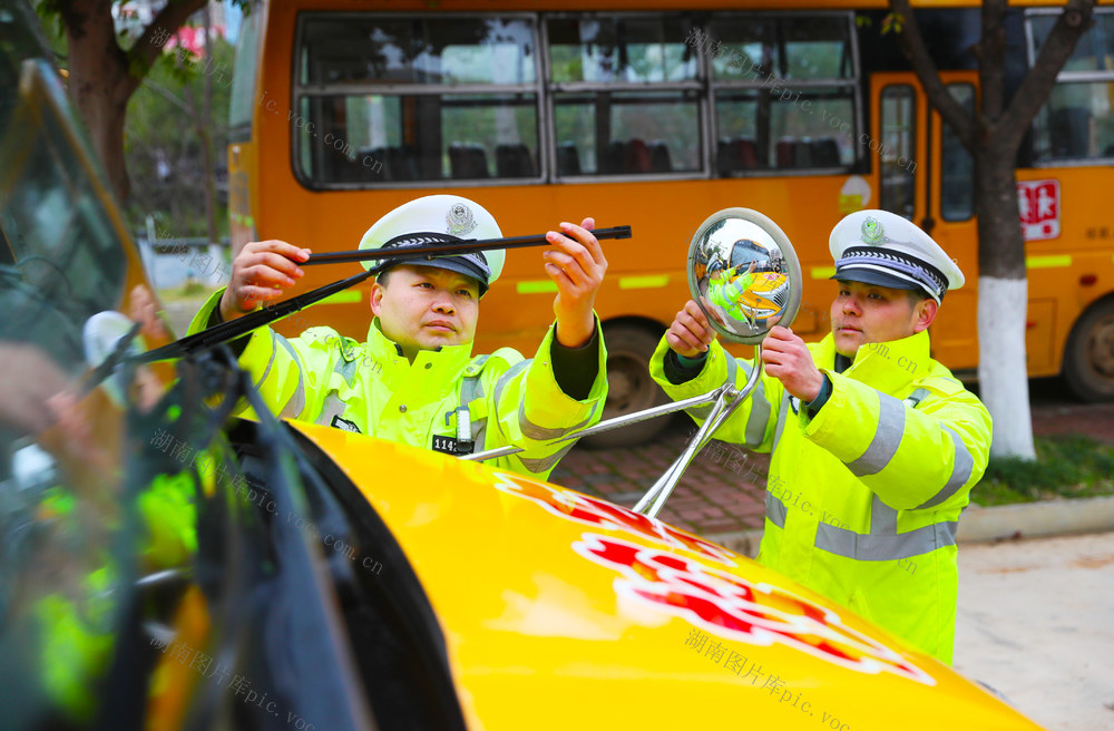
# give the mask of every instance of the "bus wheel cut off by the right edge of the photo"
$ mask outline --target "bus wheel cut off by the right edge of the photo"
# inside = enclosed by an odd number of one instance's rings
[[[1114,401],[1114,300],[1100,302],[1075,323],[1064,379],[1084,401]]]

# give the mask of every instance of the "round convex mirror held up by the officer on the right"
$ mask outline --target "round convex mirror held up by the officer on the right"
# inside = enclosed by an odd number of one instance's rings
[[[688,245],[688,291],[717,333],[756,345],[797,316],[801,264],[773,221],[750,208],[724,208]]]

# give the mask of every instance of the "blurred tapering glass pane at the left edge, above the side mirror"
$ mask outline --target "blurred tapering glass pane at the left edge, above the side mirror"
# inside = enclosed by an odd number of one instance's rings
[[[66,92],[48,62],[25,60],[18,85],[0,94],[0,335],[39,345],[72,372],[84,366],[82,324],[123,300],[126,259],[104,184],[67,139]]]

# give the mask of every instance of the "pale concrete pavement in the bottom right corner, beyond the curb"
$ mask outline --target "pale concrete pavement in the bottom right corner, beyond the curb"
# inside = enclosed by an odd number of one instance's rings
[[[1114,729],[1114,533],[959,552],[955,667],[1053,731]]]

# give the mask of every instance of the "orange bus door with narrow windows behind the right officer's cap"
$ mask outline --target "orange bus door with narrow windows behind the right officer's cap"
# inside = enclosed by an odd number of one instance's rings
[[[965,106],[976,98],[974,71],[946,71],[941,78]],[[913,72],[870,77],[870,133],[859,144],[871,157],[868,208],[905,216],[928,232],[955,259],[967,283],[945,296],[934,322],[932,357],[952,370],[978,362],[976,294],[978,246],[971,157],[944,125]]]

